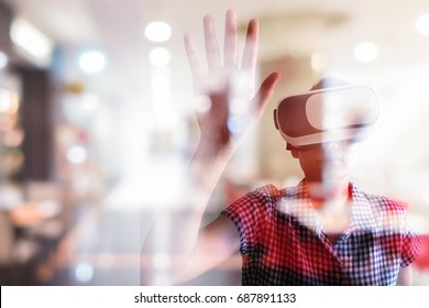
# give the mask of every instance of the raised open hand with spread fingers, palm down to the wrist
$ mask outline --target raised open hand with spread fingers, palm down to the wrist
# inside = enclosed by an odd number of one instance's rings
[[[221,154],[237,143],[263,113],[278,73],[272,73],[254,94],[257,61],[258,22],[249,22],[241,64],[237,14],[226,14],[223,63],[215,32],[213,19],[204,19],[207,70],[197,53],[193,37],[185,35],[196,90],[197,119],[201,130],[199,154],[207,158]]]

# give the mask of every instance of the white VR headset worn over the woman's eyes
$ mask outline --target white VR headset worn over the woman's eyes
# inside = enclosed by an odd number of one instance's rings
[[[282,99],[274,110],[274,123],[290,150],[362,140],[378,116],[378,96],[372,88],[341,86]]]

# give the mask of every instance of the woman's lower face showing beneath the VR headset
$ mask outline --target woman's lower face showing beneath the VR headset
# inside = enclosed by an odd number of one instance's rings
[[[293,156],[309,182],[332,183],[349,179],[355,166],[359,144],[351,142],[330,142],[294,148]]]

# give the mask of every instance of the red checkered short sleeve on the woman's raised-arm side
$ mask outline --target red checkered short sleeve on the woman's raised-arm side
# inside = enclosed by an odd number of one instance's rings
[[[267,197],[276,188],[265,186],[258,188],[231,204],[222,215],[229,217],[240,234],[240,252],[251,255],[254,248],[261,243],[264,226],[270,215]]]

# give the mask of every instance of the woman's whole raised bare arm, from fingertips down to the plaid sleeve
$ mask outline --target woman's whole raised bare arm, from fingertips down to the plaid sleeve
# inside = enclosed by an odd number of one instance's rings
[[[253,94],[255,79],[258,23],[248,28],[242,64],[238,62],[237,16],[226,16],[224,63],[221,63],[213,20],[204,19],[208,72],[202,69],[193,37],[185,35],[185,47],[193,72],[197,98],[210,108],[197,112],[200,141],[184,174],[182,191],[189,196],[175,212],[160,210],[142,250],[142,284],[177,284],[201,274],[234,254],[239,234],[227,217],[200,229],[206,205],[233,154],[239,141],[256,123],[270,100],[279,74],[271,74]],[[245,76],[246,82],[232,88],[234,78]],[[232,133],[228,129],[231,101],[244,101],[248,112],[244,129]],[[168,189],[168,187],[166,187]]]

